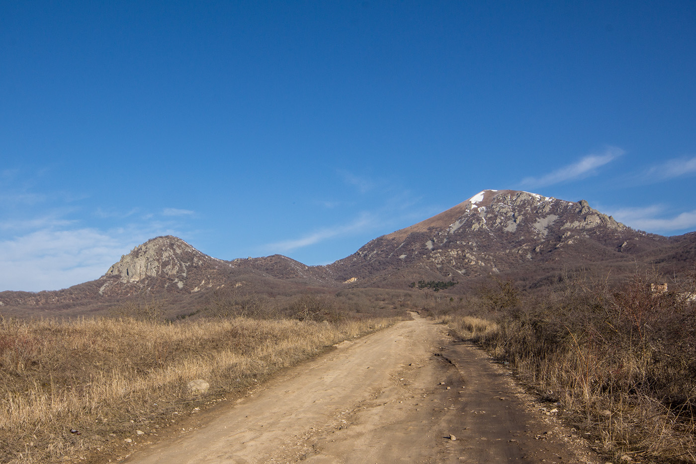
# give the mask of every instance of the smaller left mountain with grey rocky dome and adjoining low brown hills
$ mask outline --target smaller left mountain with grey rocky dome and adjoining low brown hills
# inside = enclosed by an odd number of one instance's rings
[[[2,291],[0,307],[70,307],[139,294],[177,298],[223,287],[293,293],[299,288],[326,285],[325,274],[321,268],[282,255],[224,261],[168,235],[136,246],[97,280],[57,291]]]

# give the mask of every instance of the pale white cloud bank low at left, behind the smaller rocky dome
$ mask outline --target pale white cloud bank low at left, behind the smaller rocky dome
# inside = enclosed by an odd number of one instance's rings
[[[158,235],[180,235],[185,221],[176,216],[189,216],[176,209],[152,218],[143,218],[137,207],[120,213],[97,209],[93,217],[110,225],[85,227],[82,210],[58,207],[0,219],[0,291],[61,289],[94,280],[133,246]]]

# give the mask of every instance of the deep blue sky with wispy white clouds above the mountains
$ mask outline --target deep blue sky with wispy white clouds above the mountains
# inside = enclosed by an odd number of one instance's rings
[[[0,290],[327,264],[482,189],[696,230],[693,1],[0,3]]]

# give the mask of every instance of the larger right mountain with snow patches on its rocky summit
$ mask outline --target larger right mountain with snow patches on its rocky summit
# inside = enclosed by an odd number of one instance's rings
[[[484,190],[432,218],[378,237],[328,267],[337,280],[356,278],[363,285],[385,287],[489,273],[524,274],[529,281],[587,267],[619,266],[625,273],[631,266],[635,270],[635,262],[650,262],[679,242],[633,230],[585,200]]]

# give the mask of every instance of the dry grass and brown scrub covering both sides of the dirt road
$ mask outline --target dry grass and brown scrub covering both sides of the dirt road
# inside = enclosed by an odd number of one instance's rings
[[[144,299],[111,317],[0,317],[0,463],[116,461],[198,410],[418,309],[509,363],[605,458],[693,464],[696,275],[651,285],[663,281],[565,275],[553,289],[523,291],[491,278],[464,296],[230,292],[189,312]],[[210,385],[200,396],[187,387],[198,378]]]

